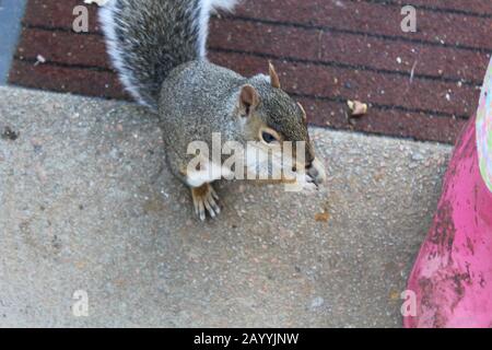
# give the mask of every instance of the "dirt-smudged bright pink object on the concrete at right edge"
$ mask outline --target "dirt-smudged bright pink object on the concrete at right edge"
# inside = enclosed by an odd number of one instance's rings
[[[433,225],[408,281],[405,327],[492,327],[492,194],[479,171],[476,120],[456,145]]]

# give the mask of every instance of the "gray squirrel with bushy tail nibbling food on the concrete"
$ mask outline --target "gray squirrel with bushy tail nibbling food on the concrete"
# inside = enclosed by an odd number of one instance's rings
[[[192,141],[223,140],[260,152],[281,150],[284,141],[305,141],[302,164],[307,183],[325,179],[323,162],[315,155],[300,103],[281,90],[279,75],[244,78],[207,59],[210,15],[232,11],[237,0],[109,0],[99,10],[99,22],[113,66],[125,89],[159,115],[172,173],[190,187],[195,212],[204,220],[220,212],[212,183],[221,176],[210,168],[218,162],[190,167]],[[221,159],[222,160],[222,159]],[[208,165],[207,165],[208,164]],[[304,171],[305,170],[305,171]]]

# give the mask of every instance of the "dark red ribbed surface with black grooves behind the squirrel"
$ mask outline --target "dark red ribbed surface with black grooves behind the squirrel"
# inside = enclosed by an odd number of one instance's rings
[[[400,30],[401,3],[418,10],[418,33]],[[71,32],[82,1],[28,0],[10,81],[129,98],[108,63],[90,7],[89,34]],[[212,61],[251,75],[271,59],[284,89],[319,126],[453,142],[475,112],[492,51],[489,0],[243,0],[212,20]],[[36,56],[46,63],[36,65]],[[412,77],[411,77],[412,75]],[[349,122],[345,101],[370,103]]]

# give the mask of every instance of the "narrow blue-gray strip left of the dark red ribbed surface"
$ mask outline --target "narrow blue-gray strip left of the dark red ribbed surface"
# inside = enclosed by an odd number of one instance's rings
[[[17,45],[25,0],[0,0],[0,85],[5,84]]]

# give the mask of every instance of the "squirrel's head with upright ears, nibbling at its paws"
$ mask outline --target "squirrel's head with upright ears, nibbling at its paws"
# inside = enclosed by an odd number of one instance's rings
[[[325,180],[325,167],[309,139],[306,112],[301,103],[281,89],[279,75],[271,62],[269,77],[253,77],[241,88],[237,114],[247,141],[257,141],[259,149],[269,154],[291,154],[292,170],[305,168],[316,185]],[[285,141],[292,145],[292,152],[283,152]],[[297,153],[298,141],[304,143],[304,156]]]

